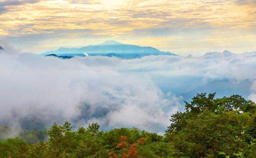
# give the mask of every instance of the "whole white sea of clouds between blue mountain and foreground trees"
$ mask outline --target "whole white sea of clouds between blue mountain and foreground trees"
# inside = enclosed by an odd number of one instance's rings
[[[103,130],[138,127],[163,133],[170,116],[184,109],[182,94],[213,81],[236,85],[246,80],[249,87],[240,87],[248,91],[246,99],[255,100],[255,70],[256,52],[63,60],[1,51],[0,125],[18,130],[24,123],[49,127],[68,120],[75,128],[98,122]]]

